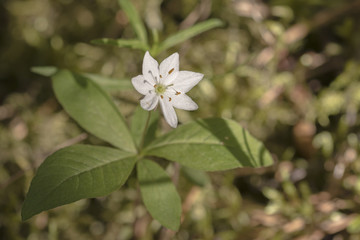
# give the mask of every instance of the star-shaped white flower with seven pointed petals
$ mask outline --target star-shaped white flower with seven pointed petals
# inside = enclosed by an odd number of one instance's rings
[[[147,111],[153,110],[159,103],[166,122],[177,127],[175,108],[196,110],[197,104],[185,93],[190,91],[203,78],[203,74],[179,71],[179,54],[174,53],[160,63],[145,53],[142,67],[143,75],[131,79],[134,88],[145,95],[140,105]]]

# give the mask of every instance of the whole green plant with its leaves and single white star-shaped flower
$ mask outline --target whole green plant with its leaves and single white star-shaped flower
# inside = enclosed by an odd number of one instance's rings
[[[144,24],[130,1],[120,0],[137,35],[133,40],[100,39],[94,43],[141,49],[145,53],[143,74],[132,79],[145,97],[140,101],[129,127],[106,88],[114,84],[94,74],[75,73],[54,67],[33,71],[51,76],[55,95],[66,112],[86,131],[112,147],[77,144],[58,150],[45,159],[31,182],[22,208],[23,220],[83,198],[105,196],[121,187],[136,169],[143,202],[163,226],[178,230],[181,200],[176,187],[156,159],[165,159],[202,171],[221,171],[272,164],[264,145],[237,122],[209,118],[178,125],[174,110],[196,110],[186,95],[202,78],[200,73],[179,71],[177,53],[160,66],[150,56],[206,30],[220,26],[208,20],[158,42],[155,30],[150,48]],[[129,88],[129,83],[116,86]],[[111,88],[111,87],[110,87]],[[165,120],[175,128],[157,136],[159,115],[151,111],[160,105]]]

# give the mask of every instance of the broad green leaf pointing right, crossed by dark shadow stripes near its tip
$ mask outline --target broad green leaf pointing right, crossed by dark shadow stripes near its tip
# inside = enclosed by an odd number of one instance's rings
[[[223,118],[182,125],[150,143],[144,153],[204,171],[262,167],[273,163],[260,141],[237,122]]]

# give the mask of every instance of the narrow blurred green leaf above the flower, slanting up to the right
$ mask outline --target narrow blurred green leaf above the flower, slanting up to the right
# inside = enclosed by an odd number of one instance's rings
[[[210,29],[220,27],[223,25],[223,22],[219,19],[209,19],[207,21],[195,24],[194,26],[187,28],[185,30],[179,31],[174,35],[165,39],[159,46],[158,52],[165,51],[179,43],[182,43],[196,35],[199,35],[203,32],[206,32]],[[154,54],[156,55],[156,54]]]

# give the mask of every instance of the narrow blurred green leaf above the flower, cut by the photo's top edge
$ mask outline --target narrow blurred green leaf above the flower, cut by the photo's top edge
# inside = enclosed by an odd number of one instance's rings
[[[121,8],[129,18],[129,21],[141,42],[147,44],[147,33],[143,21],[130,0],[118,0]]]

